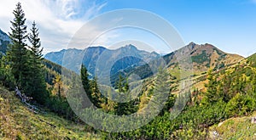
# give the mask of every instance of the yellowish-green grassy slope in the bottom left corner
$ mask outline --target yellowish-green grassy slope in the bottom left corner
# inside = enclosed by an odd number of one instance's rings
[[[83,125],[52,113],[35,115],[15,97],[15,92],[3,87],[0,87],[0,107],[0,139],[98,139],[95,134],[85,132]]]

